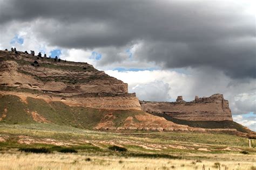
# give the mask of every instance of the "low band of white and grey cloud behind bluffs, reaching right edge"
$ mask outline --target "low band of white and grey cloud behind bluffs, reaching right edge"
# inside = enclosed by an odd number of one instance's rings
[[[129,92],[136,92],[138,97],[140,97],[138,88],[144,87],[144,91],[151,91],[152,86],[145,86],[145,84],[163,82],[169,84],[169,89],[165,89],[165,91],[170,98],[169,100],[163,99],[166,101],[174,101],[179,95],[182,95],[185,101],[192,101],[196,95],[203,97],[220,93],[224,94],[225,99],[230,102],[233,114],[255,112],[255,80],[236,82],[215,70],[200,72],[200,70],[190,69],[187,71],[190,73],[189,75],[174,70],[144,70],[139,72],[106,70],[105,72],[128,83]],[[161,95],[159,94],[159,96]],[[148,96],[143,95],[143,99],[139,99],[159,100],[159,96],[152,98],[149,94]]]

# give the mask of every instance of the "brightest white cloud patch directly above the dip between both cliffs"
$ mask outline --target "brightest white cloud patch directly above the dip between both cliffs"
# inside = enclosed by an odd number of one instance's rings
[[[154,101],[174,101],[177,96],[183,95],[184,98],[190,99],[190,86],[188,84],[193,84],[192,77],[190,75],[177,73],[170,70],[144,70],[138,72],[118,72],[118,70],[106,70],[106,74],[116,77],[119,80],[122,80],[129,84],[129,92],[136,92],[140,96],[141,92],[138,90],[138,87],[144,87],[144,91],[152,91],[152,86],[150,83],[154,84],[156,82],[167,83],[169,88],[165,88],[165,93],[168,94],[169,98],[160,99],[159,96],[142,95],[143,99],[140,100],[154,100]],[[135,88],[137,87],[137,88]],[[161,86],[160,86],[161,87]],[[159,88],[160,88],[159,87]],[[155,89],[158,91],[158,89]],[[144,92],[143,92],[144,93]]]

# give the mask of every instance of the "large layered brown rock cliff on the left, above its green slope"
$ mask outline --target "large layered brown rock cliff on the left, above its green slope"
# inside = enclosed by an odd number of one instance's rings
[[[11,93],[98,109],[140,110],[136,95],[128,93],[127,83],[88,63],[0,51],[0,84],[3,95]]]

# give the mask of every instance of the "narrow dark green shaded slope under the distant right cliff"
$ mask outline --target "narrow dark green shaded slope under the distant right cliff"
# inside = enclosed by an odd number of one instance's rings
[[[244,126],[233,121],[186,121],[182,119],[173,118],[166,114],[152,114],[164,117],[167,121],[177,124],[188,125],[193,128],[206,128],[206,129],[237,129],[240,132],[247,132]]]

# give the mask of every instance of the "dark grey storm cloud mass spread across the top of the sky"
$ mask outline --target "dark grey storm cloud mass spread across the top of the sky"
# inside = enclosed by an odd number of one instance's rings
[[[236,2],[16,0],[0,6],[1,23],[39,20],[34,31],[51,45],[110,48],[102,65],[120,62],[112,48],[143,42],[138,61],[256,77],[255,18]]]

